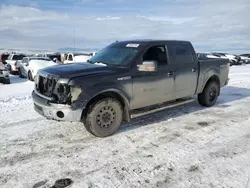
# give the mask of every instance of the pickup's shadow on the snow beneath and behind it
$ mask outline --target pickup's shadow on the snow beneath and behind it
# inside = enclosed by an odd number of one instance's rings
[[[250,89],[227,86],[221,90],[221,94],[218,98],[216,105],[210,108],[211,109],[228,108],[231,106],[230,102],[241,100],[247,97],[250,97]],[[192,113],[204,110],[204,109],[209,109],[209,108],[200,106],[197,100],[195,100],[190,103],[186,103],[184,105],[167,108],[165,110],[161,110],[158,112],[153,112],[151,114],[136,117],[132,119],[130,123],[123,124],[119,133],[130,131],[130,130],[139,128],[141,126],[147,126],[147,125],[154,124],[154,123],[160,123],[163,121],[167,121],[171,118],[177,118],[186,114],[192,114]]]

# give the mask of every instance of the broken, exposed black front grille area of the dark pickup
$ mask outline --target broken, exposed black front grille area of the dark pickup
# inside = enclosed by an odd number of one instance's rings
[[[39,75],[38,83],[36,83],[36,89],[39,93],[52,97],[53,90],[56,86],[58,79],[52,76],[43,77]]]

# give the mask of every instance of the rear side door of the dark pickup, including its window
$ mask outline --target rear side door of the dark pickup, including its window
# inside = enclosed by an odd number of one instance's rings
[[[172,42],[168,46],[174,64],[174,98],[195,94],[198,82],[198,62],[189,42]]]

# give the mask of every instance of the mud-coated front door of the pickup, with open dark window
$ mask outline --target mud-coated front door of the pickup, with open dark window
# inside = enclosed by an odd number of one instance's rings
[[[168,64],[165,45],[150,47],[141,57],[143,61],[157,61],[158,67],[154,72],[134,71],[132,109],[160,104],[173,99],[174,78],[173,70]]]

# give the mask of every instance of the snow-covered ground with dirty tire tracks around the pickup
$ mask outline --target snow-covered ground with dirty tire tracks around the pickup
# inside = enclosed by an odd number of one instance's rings
[[[192,102],[100,139],[81,123],[39,116],[33,83],[12,77],[0,85],[0,187],[50,188],[70,178],[72,188],[246,188],[250,66],[232,67],[230,79],[212,108]]]

